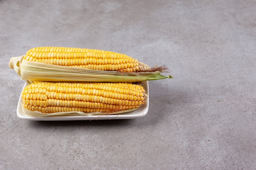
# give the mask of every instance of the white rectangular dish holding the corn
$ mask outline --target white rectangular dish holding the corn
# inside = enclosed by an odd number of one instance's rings
[[[29,84],[29,82],[26,82],[23,86],[23,89]],[[148,81],[144,81],[141,84],[144,89],[146,90],[146,93],[148,95],[146,99],[146,103],[141,106],[139,109],[134,110],[132,112],[123,113],[120,115],[92,115],[92,116],[46,116],[46,117],[33,117],[30,115],[27,115],[22,110],[21,105],[21,98],[22,95],[20,94],[20,99],[18,102],[17,107],[17,116],[21,119],[27,119],[27,120],[36,120],[36,121],[68,121],[68,120],[106,120],[106,119],[135,119],[139,117],[143,117],[148,113],[148,104],[149,104],[149,88],[148,88]],[[23,90],[22,89],[22,90]]]

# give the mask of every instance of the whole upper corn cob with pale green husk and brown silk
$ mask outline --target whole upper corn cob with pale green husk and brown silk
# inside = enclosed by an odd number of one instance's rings
[[[12,57],[9,67],[30,81],[138,82],[171,78],[168,68],[150,68],[128,55],[110,51],[38,47]]]

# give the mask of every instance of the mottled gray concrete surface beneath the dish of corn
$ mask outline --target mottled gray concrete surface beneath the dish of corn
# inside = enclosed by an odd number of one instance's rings
[[[254,0],[0,0],[1,170],[254,170]],[[145,117],[27,121],[11,56],[36,46],[166,64]]]

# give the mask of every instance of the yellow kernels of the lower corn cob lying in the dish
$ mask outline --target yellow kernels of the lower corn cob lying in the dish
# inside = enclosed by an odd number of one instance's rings
[[[22,106],[41,113],[84,113],[139,108],[146,101],[143,86],[104,82],[35,82],[22,91]]]

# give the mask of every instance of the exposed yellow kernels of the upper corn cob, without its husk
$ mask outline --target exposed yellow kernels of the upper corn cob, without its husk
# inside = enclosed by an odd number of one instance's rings
[[[23,60],[102,71],[150,72],[147,64],[121,53],[95,49],[37,47]]]

